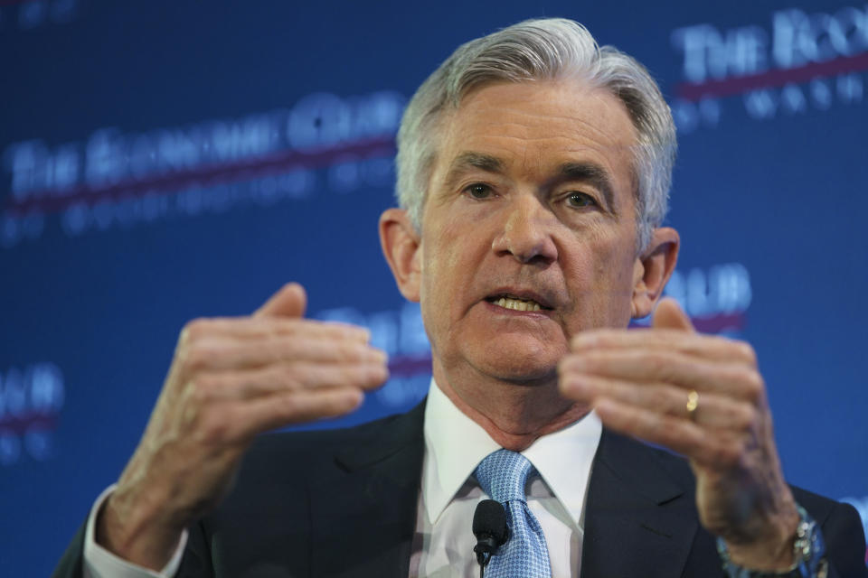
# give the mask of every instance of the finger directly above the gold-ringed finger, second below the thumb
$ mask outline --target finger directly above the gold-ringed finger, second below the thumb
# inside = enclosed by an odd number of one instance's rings
[[[758,402],[765,385],[755,368],[741,363],[708,361],[665,350],[593,350],[567,355],[561,373],[578,373],[625,381],[665,382],[683,389],[715,392]]]

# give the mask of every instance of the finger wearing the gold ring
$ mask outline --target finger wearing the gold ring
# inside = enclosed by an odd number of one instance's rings
[[[561,391],[564,396],[590,406],[594,406],[599,399],[608,398],[710,428],[744,431],[756,419],[756,410],[749,403],[704,393],[700,397],[700,406],[691,415],[687,410],[688,392],[664,383],[636,384],[618,379],[570,375],[561,380]]]

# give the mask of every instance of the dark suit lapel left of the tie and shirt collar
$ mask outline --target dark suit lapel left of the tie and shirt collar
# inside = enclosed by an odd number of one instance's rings
[[[310,478],[312,575],[405,578],[416,527],[424,403],[377,424]]]

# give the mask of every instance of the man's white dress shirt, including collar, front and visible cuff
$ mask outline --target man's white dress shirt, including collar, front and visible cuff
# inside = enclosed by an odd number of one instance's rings
[[[471,528],[476,504],[488,498],[473,477],[483,458],[500,446],[461,413],[431,380],[425,406],[425,457],[410,557],[410,576],[477,576],[479,567]],[[540,472],[528,480],[527,505],[542,526],[552,577],[579,576],[583,512],[590,467],[602,426],[590,413],[575,424],[536,440],[522,452]],[[94,519],[111,488],[90,510],[85,532],[85,578],[172,578],[187,540],[184,532],[175,555],[161,572],[130,564],[94,540]]]

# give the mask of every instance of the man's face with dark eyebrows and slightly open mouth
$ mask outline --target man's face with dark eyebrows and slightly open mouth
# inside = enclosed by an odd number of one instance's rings
[[[417,256],[435,366],[551,378],[572,335],[630,318],[627,110],[576,80],[501,83],[443,122]]]

